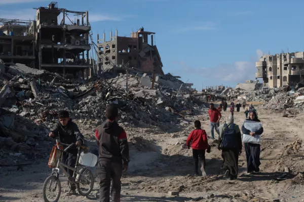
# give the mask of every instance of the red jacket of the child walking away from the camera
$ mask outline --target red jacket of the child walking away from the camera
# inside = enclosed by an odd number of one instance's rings
[[[190,143],[193,149],[207,149],[208,139],[206,131],[203,129],[193,130],[187,138],[187,146],[190,146]]]

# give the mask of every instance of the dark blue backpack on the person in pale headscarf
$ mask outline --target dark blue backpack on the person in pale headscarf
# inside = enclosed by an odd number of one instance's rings
[[[235,124],[231,124],[230,127],[225,123],[222,139],[222,148],[237,148],[238,140],[236,132],[234,131]]]

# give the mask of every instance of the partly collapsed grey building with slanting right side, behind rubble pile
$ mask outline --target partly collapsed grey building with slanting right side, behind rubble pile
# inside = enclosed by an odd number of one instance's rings
[[[154,44],[154,34],[156,33],[140,28],[132,32],[130,37],[118,36],[118,31],[112,36],[110,32],[108,41],[105,39],[105,33],[102,39],[97,35],[99,71],[117,65],[127,65],[146,73],[155,72],[164,75],[163,63]]]

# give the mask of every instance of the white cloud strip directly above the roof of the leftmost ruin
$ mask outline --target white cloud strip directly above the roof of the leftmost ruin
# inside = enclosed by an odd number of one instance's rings
[[[35,16],[36,16],[36,11],[34,9],[23,9],[16,11],[0,10],[0,18],[34,20]]]

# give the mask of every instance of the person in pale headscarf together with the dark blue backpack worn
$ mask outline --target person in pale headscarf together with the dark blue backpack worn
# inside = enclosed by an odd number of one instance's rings
[[[222,150],[225,177],[234,180],[238,177],[239,155],[242,153],[242,136],[238,125],[234,124],[233,116],[219,127],[219,145]]]

